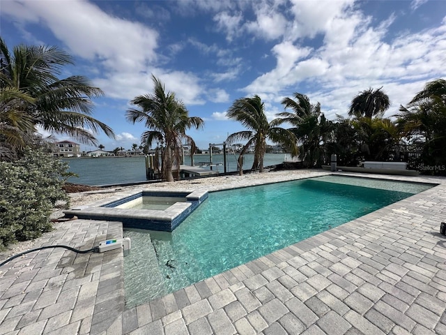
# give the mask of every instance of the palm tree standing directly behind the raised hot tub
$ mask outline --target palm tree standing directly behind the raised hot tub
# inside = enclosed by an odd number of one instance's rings
[[[192,127],[201,128],[204,124],[199,117],[189,117],[184,103],[178,100],[173,92],[165,93],[164,84],[152,75],[153,94],[135,97],[130,103],[139,108],[130,108],[126,118],[133,124],[144,121],[149,128],[141,135],[141,142],[148,145],[160,142],[162,151],[162,178],[174,181],[172,165],[176,161],[179,169],[183,141],[194,144],[192,137],[186,131]],[[174,158],[174,159],[173,159]],[[179,176],[179,174],[178,174]]]

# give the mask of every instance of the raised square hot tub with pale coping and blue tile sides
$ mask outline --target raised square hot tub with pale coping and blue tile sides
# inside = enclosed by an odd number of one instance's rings
[[[121,193],[63,211],[67,218],[120,221],[125,228],[172,232],[208,198],[208,191]]]

